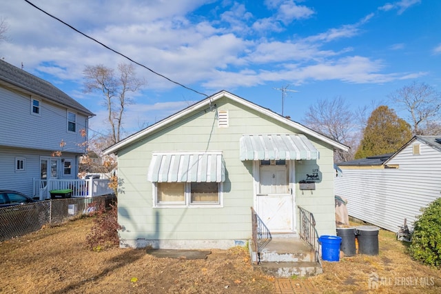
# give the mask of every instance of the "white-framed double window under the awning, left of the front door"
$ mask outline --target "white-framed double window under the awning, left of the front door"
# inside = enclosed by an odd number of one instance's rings
[[[223,184],[218,182],[156,182],[155,207],[222,207]]]

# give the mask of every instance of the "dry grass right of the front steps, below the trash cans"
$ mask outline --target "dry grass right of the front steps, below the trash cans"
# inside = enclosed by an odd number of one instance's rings
[[[406,254],[409,243],[384,230],[378,243],[378,255],[323,262],[324,273],[308,280],[324,293],[441,293],[441,271],[413,261]]]

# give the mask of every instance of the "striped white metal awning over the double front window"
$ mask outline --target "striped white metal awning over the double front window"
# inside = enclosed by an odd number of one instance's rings
[[[153,153],[147,180],[150,182],[225,182],[225,164],[222,153]]]

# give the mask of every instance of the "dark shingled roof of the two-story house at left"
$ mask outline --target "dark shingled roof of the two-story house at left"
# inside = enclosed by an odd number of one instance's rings
[[[12,64],[0,59],[0,85],[9,86],[26,92],[27,94],[39,95],[45,99],[48,99],[56,104],[61,104],[68,108],[78,110],[84,115],[93,116],[94,113],[90,112],[88,108],[85,108],[79,104],[75,99],[68,96],[65,92],[50,84],[50,82],[40,79],[29,72],[12,66]]]

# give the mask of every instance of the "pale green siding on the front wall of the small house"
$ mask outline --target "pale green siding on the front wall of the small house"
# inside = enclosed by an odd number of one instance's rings
[[[119,194],[121,239],[251,238],[252,161],[240,161],[239,139],[243,134],[296,133],[296,130],[241,104],[227,103],[225,98],[216,104],[218,109],[228,110],[228,128],[218,128],[216,110],[196,112],[119,151],[119,179],[123,182],[123,192]],[[296,201],[313,213],[317,211],[321,233],[335,235],[332,150],[316,139],[309,139],[318,148],[320,159],[297,164],[296,177],[305,177],[317,166],[323,177],[313,193],[307,191],[302,195],[296,190]],[[147,182],[152,152],[173,150],[223,152],[226,169],[223,208],[152,208],[152,183]]]

